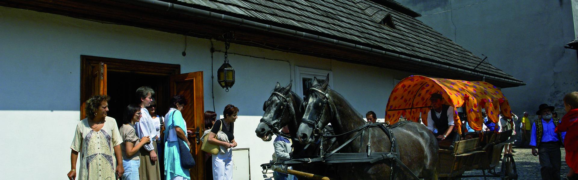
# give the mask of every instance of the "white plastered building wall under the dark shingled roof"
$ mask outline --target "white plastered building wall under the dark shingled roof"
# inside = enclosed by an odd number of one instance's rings
[[[237,148],[250,148],[251,179],[263,179],[259,165],[269,162],[273,153],[272,142],[254,134],[262,103],[277,81],[286,85],[295,77],[296,65],[331,70],[333,88],[361,114],[373,110],[379,118],[384,117],[393,79],[410,75],[232,44],[229,58],[236,83],[225,92],[211,78],[211,66],[216,72],[223,53],[214,52],[212,63],[209,51],[212,44],[224,51],[223,42],[188,37],[183,57],[183,35],[2,6],[0,27],[2,179],[65,178],[80,113],[80,55],[180,64],[181,73],[203,71],[205,110],[213,110],[213,93],[218,115],[229,103],[240,109]]]

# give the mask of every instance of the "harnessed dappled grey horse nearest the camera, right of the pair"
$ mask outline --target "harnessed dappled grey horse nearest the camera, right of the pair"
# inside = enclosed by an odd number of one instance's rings
[[[299,142],[310,144],[314,142],[316,129],[321,129],[331,123],[335,134],[350,132],[365,124],[360,113],[339,95],[328,88],[329,78],[323,84],[318,84],[314,78],[314,86],[310,89],[305,102],[305,112],[298,128]],[[438,163],[438,141],[431,132],[420,123],[409,122],[391,129],[398,144],[397,152],[401,162],[411,172],[425,179],[436,179]],[[315,133],[314,133],[315,132]],[[371,134],[371,152],[390,152],[390,138],[380,128],[370,128],[357,139],[347,144],[340,152],[367,152],[368,135]],[[354,137],[355,133],[337,137],[339,144]],[[336,167],[340,179],[390,179],[391,167],[387,162],[377,163],[340,163]],[[410,172],[397,170],[395,179],[411,179]]]

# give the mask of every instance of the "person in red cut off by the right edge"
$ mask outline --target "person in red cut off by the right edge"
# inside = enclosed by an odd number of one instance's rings
[[[555,132],[566,132],[564,147],[566,148],[566,164],[570,171],[566,179],[578,179],[578,92],[570,92],[564,96],[566,115],[556,127]]]

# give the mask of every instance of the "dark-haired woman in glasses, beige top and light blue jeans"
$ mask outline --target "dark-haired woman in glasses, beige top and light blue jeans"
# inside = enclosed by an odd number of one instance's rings
[[[136,122],[140,121],[141,114],[140,107],[131,104],[125,108],[123,119],[118,121],[118,132],[120,132],[120,137],[123,139],[123,143],[120,144],[123,151],[123,180],[139,180],[139,150],[144,144],[150,142],[149,136],[139,140],[136,136],[135,128],[132,128]]]

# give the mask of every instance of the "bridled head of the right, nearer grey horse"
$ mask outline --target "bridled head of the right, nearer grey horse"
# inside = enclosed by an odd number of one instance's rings
[[[304,114],[297,130],[301,144],[313,143],[314,136],[318,135],[333,118],[334,110],[331,108],[331,99],[327,93],[328,84],[329,76],[321,84],[318,83],[317,78],[313,78],[313,87],[309,88],[309,97],[302,104]]]

